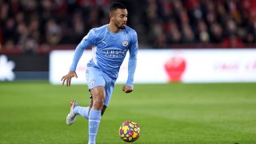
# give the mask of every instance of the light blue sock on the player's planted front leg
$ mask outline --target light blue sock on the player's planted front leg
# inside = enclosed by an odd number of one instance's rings
[[[96,135],[98,133],[98,126],[101,122],[102,110],[90,110],[89,114],[89,142],[88,144],[96,143]]]

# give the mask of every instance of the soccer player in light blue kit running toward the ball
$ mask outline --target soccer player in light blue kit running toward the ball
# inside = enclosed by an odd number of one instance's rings
[[[137,64],[138,37],[135,30],[126,26],[128,12],[122,3],[110,6],[110,23],[91,29],[74,51],[73,62],[68,74],[62,77],[62,85],[70,86],[71,78],[78,78],[75,73],[83,51],[93,46],[92,58],[87,63],[86,82],[90,91],[90,106],[78,106],[77,102],[70,103],[70,113],[66,124],[72,125],[77,115],[89,120],[89,142],[96,143],[96,134],[102,114],[109,106],[118,71],[127,51],[130,53],[128,62],[128,78],[122,86],[125,93],[134,90],[134,72]]]

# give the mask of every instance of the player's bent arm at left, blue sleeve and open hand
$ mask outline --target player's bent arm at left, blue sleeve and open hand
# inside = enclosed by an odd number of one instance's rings
[[[80,58],[82,57],[83,51],[86,50],[88,47],[93,45],[93,38],[94,34],[92,31],[90,31],[84,38],[82,38],[82,41],[78,44],[76,49],[74,50],[74,57],[72,64],[70,66],[70,72],[62,77],[62,86],[66,82],[66,86],[70,86],[71,84],[71,78],[78,78],[78,75],[75,73],[76,67],[78,66],[78,62]]]

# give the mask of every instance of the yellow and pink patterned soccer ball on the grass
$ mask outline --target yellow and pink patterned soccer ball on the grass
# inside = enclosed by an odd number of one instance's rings
[[[125,142],[134,142],[140,135],[140,128],[136,122],[126,121],[119,128],[119,135]]]

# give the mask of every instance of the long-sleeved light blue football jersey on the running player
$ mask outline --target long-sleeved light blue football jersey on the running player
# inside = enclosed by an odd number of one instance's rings
[[[108,24],[91,29],[82,39],[74,52],[73,62],[70,70],[75,71],[78,61],[85,49],[92,48],[92,58],[87,66],[95,66],[106,73],[110,78],[118,78],[118,71],[127,51],[130,52],[128,64],[128,78],[126,84],[133,86],[134,72],[137,64],[138,36],[135,30],[126,26],[118,33],[112,33],[108,30]]]

